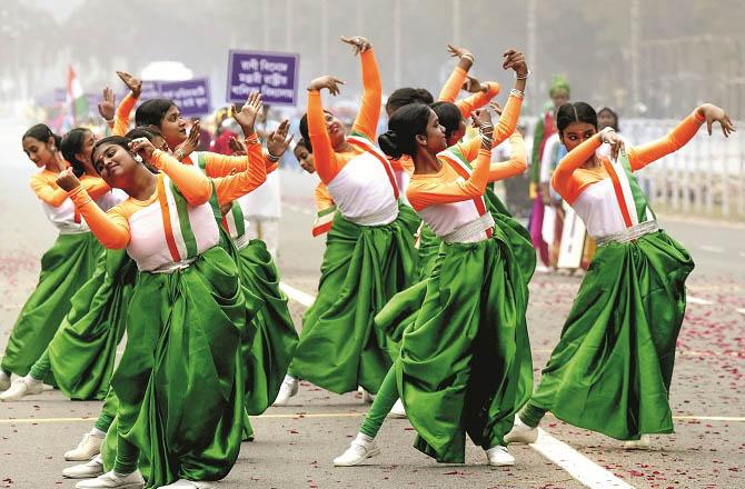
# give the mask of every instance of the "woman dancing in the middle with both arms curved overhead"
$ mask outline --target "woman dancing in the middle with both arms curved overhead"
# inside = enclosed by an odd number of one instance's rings
[[[320,90],[339,92],[339,81],[321,77],[308,86],[308,113],[300,132],[316,171],[337,206],[327,234],[318,296],[302,318],[300,342],[275,406],[287,403],[298,378],[337,393],[375,393],[398,346],[377,331],[372,317],[416,273],[417,218],[400,206],[388,159],[375,146],[380,111],[380,74],[370,43],[341,38],[360,54],[364,93],[350,137],[324,112]]]

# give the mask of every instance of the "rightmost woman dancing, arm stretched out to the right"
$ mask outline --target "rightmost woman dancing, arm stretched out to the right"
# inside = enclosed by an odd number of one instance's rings
[[[520,411],[507,442],[534,442],[546,411],[570,425],[619,440],[673,432],[668,402],[675,341],[685,312],[688,252],[659,229],[633,172],[681,149],[706,122],[734,131],[724,110],[703,104],[666,137],[624,148],[612,128],[597,131],[584,102],[557,114],[569,153],[553,186],[598,243],[540,383]],[[602,143],[610,159],[598,157]]]

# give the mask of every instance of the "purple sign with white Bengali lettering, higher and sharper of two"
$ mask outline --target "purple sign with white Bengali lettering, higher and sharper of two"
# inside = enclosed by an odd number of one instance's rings
[[[299,54],[230,50],[226,100],[244,103],[260,91],[264,103],[295,106],[298,99]]]

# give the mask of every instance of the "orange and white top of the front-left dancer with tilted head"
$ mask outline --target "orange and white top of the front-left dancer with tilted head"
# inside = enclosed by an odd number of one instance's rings
[[[82,187],[70,192],[91,231],[109,249],[127,248],[140,271],[170,272],[187,267],[219,242],[217,217],[210,203],[232,202],[266,180],[266,166],[251,166],[230,177],[209,179],[170,154],[156,150],[151,164],[162,170],[147,200],[129,198],[103,212]]]

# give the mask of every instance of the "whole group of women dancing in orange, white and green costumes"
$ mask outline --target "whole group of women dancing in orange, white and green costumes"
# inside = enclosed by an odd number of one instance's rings
[[[245,136],[234,156],[195,152],[195,131],[167,99],[143,101],[128,130],[141,84],[126,73],[131,93],[107,117],[112,136],[73,129],[60,139],[43,124],[23,134],[41,169],[32,189],[59,237],[11,332],[0,399],[44,382],[70,399],[103,399],[66,453],[85,462],[63,472],[83,479],[78,488],[211,487],[252,439],[248,416],[291,402],[299,379],[362,389],[371,401],[334,460],[340,467],[380,452],[375,438],[391,410],[439,462],[464,462],[468,435],[489,465],[513,465],[507,445],[535,441],[547,411],[642,445],[673,431],[668,393],[693,261],[659,228],[634,171],[704,122],[728,136],[726,113],[701,106],[665,138],[627,148],[613,129],[598,131],[587,103],[557,108],[566,156],[550,183],[598,248],[534,390],[526,311],[536,253],[489,187],[528,167],[516,131],[530,76],[524,56],[503,54],[515,83],[496,124],[499,84],[469,77],[474,56],[450,47],[458,66],[439,100],[395,90],[388,130],[377,134],[374,50],[361,37],[341,40],[362,71],[351,132],[324,109],[321,91],[342,83],[324,76],[308,84],[292,146],[320,178],[312,233],[326,236],[299,337],[272,256],[247,234],[246,196],[292,143],[284,121],[262,148],[260,94],[231,110]],[[473,93],[456,100],[461,87]],[[478,134],[465,139],[469,121]],[[509,159],[491,162],[506,140]]]

